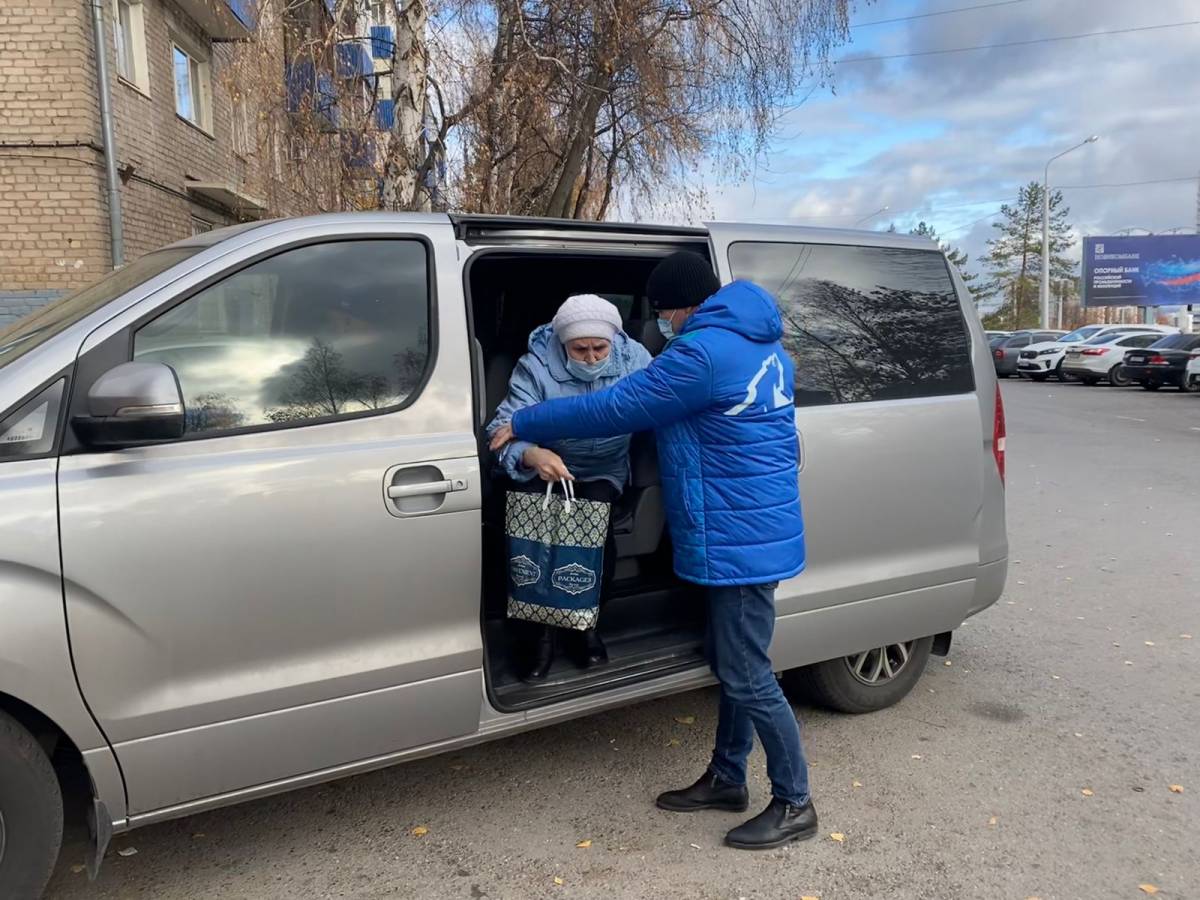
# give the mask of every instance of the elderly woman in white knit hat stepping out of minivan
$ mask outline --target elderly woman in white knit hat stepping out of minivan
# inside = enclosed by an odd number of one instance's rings
[[[617,307],[595,294],[568,298],[548,325],[534,329],[529,335],[529,352],[512,371],[509,394],[487,427],[497,462],[511,479],[512,490],[540,491],[547,481],[570,481],[577,499],[616,502],[629,481],[629,436],[536,446],[510,440],[508,425],[522,407],[601,390],[649,362],[646,348],[622,330]],[[614,565],[610,515],[601,601],[607,598]],[[527,680],[541,680],[548,674],[558,632],[569,630],[534,626],[532,660],[523,673]],[[581,666],[587,668],[607,661],[608,654],[595,628],[571,636],[575,638],[574,655]]]

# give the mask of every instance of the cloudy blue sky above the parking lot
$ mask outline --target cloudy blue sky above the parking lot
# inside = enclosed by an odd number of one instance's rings
[[[960,11],[928,16],[949,10]],[[988,216],[1094,133],[1050,168],[1078,233],[1195,226],[1200,25],[904,54],[1196,20],[1200,0],[859,1],[832,90],[785,116],[751,180],[709,185],[713,212],[848,227],[887,205],[859,227],[924,218],[973,260]]]

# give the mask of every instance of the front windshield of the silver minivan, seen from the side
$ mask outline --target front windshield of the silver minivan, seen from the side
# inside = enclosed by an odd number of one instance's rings
[[[146,253],[125,268],[109,272],[100,281],[54,300],[7,329],[0,329],[0,367],[29,353],[110,300],[150,281],[175,263],[181,263],[202,250],[204,247],[199,246],[170,247]]]

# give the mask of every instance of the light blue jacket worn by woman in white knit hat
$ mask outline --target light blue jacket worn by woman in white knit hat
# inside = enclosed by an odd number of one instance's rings
[[[509,392],[496,409],[491,434],[512,419],[512,414],[534,403],[557,397],[576,397],[604,390],[625,376],[646,368],[650,364],[649,352],[631,340],[624,331],[612,342],[612,367],[607,374],[588,383],[581,382],[566,370],[566,352],[550,325],[540,325],[529,335],[529,353],[523,355],[509,378]],[[629,436],[616,434],[596,439],[514,440],[497,455],[497,462],[517,481],[529,481],[536,476],[533,469],[521,462],[530,446],[544,446],[563,457],[566,468],[581,481],[608,481],[618,491],[629,481]]]

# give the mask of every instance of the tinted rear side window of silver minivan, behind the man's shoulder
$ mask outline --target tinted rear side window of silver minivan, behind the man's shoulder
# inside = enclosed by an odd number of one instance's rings
[[[964,394],[971,343],[937,251],[737,242],[736,278],[779,300],[796,362],[796,404]]]

